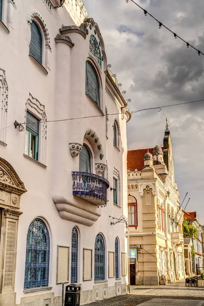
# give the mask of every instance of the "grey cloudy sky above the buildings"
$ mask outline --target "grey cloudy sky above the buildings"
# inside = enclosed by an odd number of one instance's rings
[[[203,0],[136,0],[174,33],[204,53]],[[117,74],[131,111],[204,99],[204,56],[158,23],[131,1],[84,0],[98,23],[108,63]],[[173,142],[175,179],[187,211],[197,211],[204,224],[204,101],[143,111],[127,123],[129,150],[162,145],[168,117]],[[187,201],[186,201],[187,202]],[[185,205],[184,205],[185,206]]]

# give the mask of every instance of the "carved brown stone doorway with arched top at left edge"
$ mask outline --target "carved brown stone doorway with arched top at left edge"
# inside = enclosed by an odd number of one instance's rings
[[[0,157],[0,303],[14,306],[20,196],[26,192],[14,168]],[[9,195],[9,196],[8,196]],[[7,298],[8,294],[8,298]],[[13,294],[13,296],[12,296]]]

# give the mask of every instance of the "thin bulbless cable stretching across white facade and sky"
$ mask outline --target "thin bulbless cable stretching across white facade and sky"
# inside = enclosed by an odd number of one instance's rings
[[[136,110],[136,111],[130,111],[132,114],[135,114],[135,113],[139,113],[139,112],[142,112],[142,111],[148,111],[148,110],[157,110],[159,109],[158,112],[161,112],[162,108],[166,108],[166,107],[172,107],[172,106],[178,106],[178,105],[184,105],[184,104],[190,104],[190,103],[197,103],[197,102],[201,102],[201,101],[204,101],[204,99],[201,99],[201,100],[194,100],[194,101],[189,101],[189,102],[183,102],[183,103],[175,103],[175,104],[170,104],[170,105],[163,105],[163,106],[157,106],[157,107],[149,107],[149,108],[146,108],[146,109],[141,109],[141,110]],[[118,115],[118,112],[117,113],[113,113],[113,114],[107,114],[107,116],[111,116],[111,115]],[[86,118],[95,118],[95,117],[105,117],[106,115],[94,115],[94,116],[85,116],[85,117],[78,117],[78,118],[67,118],[67,119],[59,119],[59,120],[47,120],[47,121],[40,121],[39,123],[47,123],[47,122],[62,122],[62,121],[69,121],[69,120],[78,120],[78,119],[86,119]],[[30,122],[30,123],[35,123],[36,122]],[[18,124],[26,124],[25,122],[21,122],[21,123],[18,123]],[[6,127],[3,127],[3,129],[1,129],[0,131],[2,130],[5,130],[5,129],[8,129],[10,126],[12,126],[13,124],[9,125],[9,126],[6,126]]]

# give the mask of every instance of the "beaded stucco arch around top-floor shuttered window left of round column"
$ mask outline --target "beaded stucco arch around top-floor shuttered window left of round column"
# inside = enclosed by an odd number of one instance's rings
[[[50,46],[50,37],[49,32],[47,29],[47,25],[43,19],[43,17],[37,12],[30,12],[27,22],[28,24],[32,25],[32,22],[35,21],[39,27],[41,32],[42,40],[43,40],[43,47],[42,47],[42,65],[50,70],[49,67],[49,55],[52,52],[52,48]],[[30,36],[31,37],[31,36]],[[29,41],[30,45],[30,41]]]

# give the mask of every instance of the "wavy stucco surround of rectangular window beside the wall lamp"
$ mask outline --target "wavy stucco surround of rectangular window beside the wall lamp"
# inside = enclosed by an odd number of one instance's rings
[[[39,152],[38,161],[45,165],[46,164],[46,139],[47,139],[47,117],[45,114],[45,107],[42,105],[38,99],[34,98],[31,93],[29,93],[29,98],[25,103],[25,115],[24,122],[26,122],[27,111],[32,113],[36,118],[40,120],[39,122]]]

